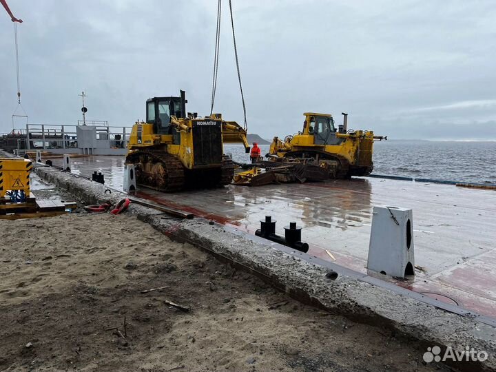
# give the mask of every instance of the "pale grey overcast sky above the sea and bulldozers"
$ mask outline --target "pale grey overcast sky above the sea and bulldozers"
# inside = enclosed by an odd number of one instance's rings
[[[30,123],[132,125],[186,90],[208,114],[217,2],[8,0]],[[233,0],[249,132],[297,132],[329,112],[390,138],[496,139],[496,6],[488,1]],[[223,1],[215,112],[242,123]],[[0,132],[17,107],[14,28],[0,8]],[[17,113],[21,112],[21,109]],[[17,118],[16,127],[25,125]]]

